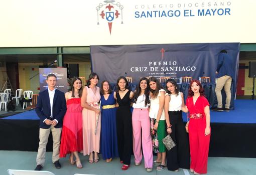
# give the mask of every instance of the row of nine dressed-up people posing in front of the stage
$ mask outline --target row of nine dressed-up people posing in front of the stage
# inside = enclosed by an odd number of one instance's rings
[[[148,172],[153,164],[158,165],[157,170],[167,166],[172,171],[186,168],[194,174],[207,172],[210,113],[198,80],[191,81],[186,104],[174,79],[167,80],[165,90],[157,78],[143,77],[135,92],[129,90],[129,83],[122,76],[117,79],[116,91],[106,80],[97,87],[98,81],[99,76],[91,73],[87,85],[82,87],[81,79],[74,78],[72,91],[64,94],[55,88],[56,76],[47,76],[48,89],[39,94],[36,108],[40,142],[35,170],[44,166],[52,131],[52,160],[56,168],[61,167],[59,158],[67,154],[71,164],[82,168],[78,152],[89,155],[89,163],[98,162],[100,152],[106,162],[119,157],[121,169],[126,170],[133,152],[137,166],[144,156]],[[182,111],[188,112],[186,124]],[[167,134],[176,144],[170,150],[162,141]]]

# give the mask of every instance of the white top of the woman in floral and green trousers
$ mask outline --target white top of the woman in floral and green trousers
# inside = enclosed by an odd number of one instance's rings
[[[159,104],[160,104],[159,97],[161,96],[161,93],[160,93],[161,91],[165,92],[164,89],[160,89],[157,98],[155,98],[155,99],[150,98],[150,100],[151,100],[151,103],[150,103],[150,118],[157,119],[157,113],[158,113]],[[164,109],[163,109],[163,112],[162,112],[160,120],[165,120]]]

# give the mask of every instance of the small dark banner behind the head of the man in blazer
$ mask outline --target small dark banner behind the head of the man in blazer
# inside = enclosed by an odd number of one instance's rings
[[[57,77],[56,89],[67,92],[67,68],[39,68],[40,92],[48,88],[46,77],[49,74]]]

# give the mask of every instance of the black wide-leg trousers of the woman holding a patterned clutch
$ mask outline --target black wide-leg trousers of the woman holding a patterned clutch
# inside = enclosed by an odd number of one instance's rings
[[[190,153],[188,134],[182,120],[181,111],[169,111],[172,133],[170,134],[176,146],[166,152],[167,167],[169,170],[190,168]]]

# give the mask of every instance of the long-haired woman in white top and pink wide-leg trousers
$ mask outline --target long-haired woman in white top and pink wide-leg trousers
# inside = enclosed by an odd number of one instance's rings
[[[138,166],[142,161],[141,147],[143,147],[145,168],[148,172],[151,172],[153,167],[153,147],[150,132],[149,94],[149,80],[143,77],[136,88],[133,99],[133,149],[135,165]]]

